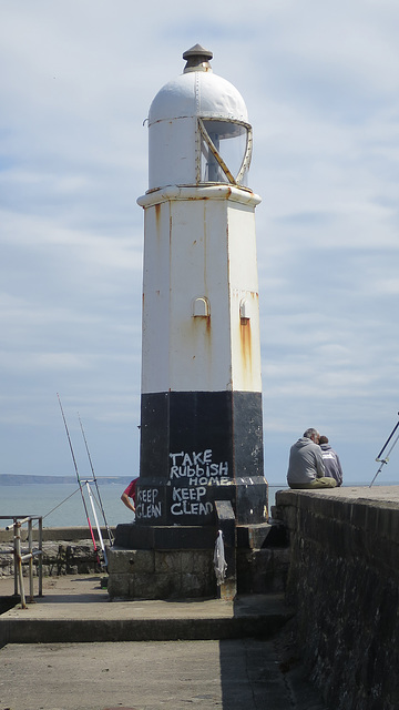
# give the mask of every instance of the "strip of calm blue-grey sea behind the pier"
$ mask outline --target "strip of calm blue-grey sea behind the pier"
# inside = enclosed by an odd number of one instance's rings
[[[347,484],[348,486],[368,486],[367,483]],[[387,481],[377,485],[387,485]],[[390,481],[398,485],[398,481]],[[91,485],[93,505],[100,525],[114,527],[120,523],[133,523],[134,514],[124,506],[121,495],[125,486],[121,483],[106,483],[99,486],[100,499],[98,499],[95,486]],[[269,508],[275,503],[277,490],[287,488],[285,481],[269,484]],[[92,506],[88,498],[86,488],[83,486],[84,500],[92,526],[95,525]],[[104,516],[101,510],[105,514]],[[10,517],[7,517],[10,516]],[[19,486],[0,486],[0,528],[12,523],[13,517],[42,516],[43,527],[76,527],[88,525],[82,495],[78,484],[29,484]]]

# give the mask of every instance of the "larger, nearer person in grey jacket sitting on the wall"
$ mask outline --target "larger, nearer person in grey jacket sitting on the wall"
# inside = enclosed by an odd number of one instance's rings
[[[290,488],[335,488],[335,478],[326,476],[320,435],[317,429],[306,429],[304,436],[290,447],[287,481]]]

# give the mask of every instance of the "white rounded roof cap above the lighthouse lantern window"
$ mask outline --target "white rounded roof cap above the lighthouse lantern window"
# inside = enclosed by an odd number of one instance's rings
[[[211,68],[204,69],[204,64],[198,70],[186,69],[158,91],[150,106],[149,125],[188,116],[248,122],[247,109],[237,89],[214,74]]]

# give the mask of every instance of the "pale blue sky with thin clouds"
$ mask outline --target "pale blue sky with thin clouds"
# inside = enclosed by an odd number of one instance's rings
[[[265,475],[310,426],[369,483],[399,410],[397,0],[0,1],[0,473],[139,470],[152,99],[195,43],[245,99]],[[399,444],[380,483],[399,480]]]

